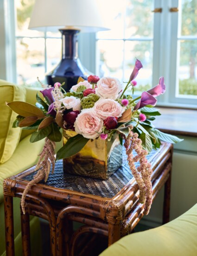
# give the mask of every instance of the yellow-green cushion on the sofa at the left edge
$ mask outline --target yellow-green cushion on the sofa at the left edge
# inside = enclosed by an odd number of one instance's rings
[[[25,94],[25,88],[0,80],[0,163],[13,155],[21,133],[19,128],[12,128],[17,114],[6,106],[6,102],[25,101]]]

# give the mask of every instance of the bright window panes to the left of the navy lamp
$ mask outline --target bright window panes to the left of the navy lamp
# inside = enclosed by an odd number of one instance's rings
[[[34,84],[36,77],[44,80],[61,57],[60,33],[29,30],[29,20],[35,0],[15,0],[17,83]],[[55,47],[54,47],[55,46]]]

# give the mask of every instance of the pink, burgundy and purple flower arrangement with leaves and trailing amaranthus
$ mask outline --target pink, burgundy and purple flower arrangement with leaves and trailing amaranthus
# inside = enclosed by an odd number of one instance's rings
[[[181,141],[175,136],[167,135],[154,128],[152,121],[160,115],[154,108],[156,97],[165,93],[164,78],[159,84],[133,98],[136,78],[142,64],[136,60],[133,72],[123,88],[116,78],[90,75],[85,81],[79,78],[78,83],[65,92],[63,84],[55,83],[54,87],[41,83],[44,99],[37,94],[37,104],[33,106],[26,102],[13,101],[7,105],[18,116],[13,127],[33,129],[31,142],[45,138],[45,144],[39,155],[36,166],[38,170],[34,179],[26,186],[21,205],[25,213],[25,195],[31,186],[42,179],[47,181],[51,166],[54,171],[55,161],[68,158],[78,153],[89,140],[101,138],[110,140],[114,133],[119,134],[124,142],[127,160],[133,176],[139,185],[140,202],[145,203],[145,214],[148,214],[152,203],[152,169],[146,160],[146,155],[160,147],[160,140],[176,143]],[[127,94],[131,88],[132,94]],[[55,159],[55,142],[61,141],[60,129],[73,130],[76,136],[70,137],[67,143],[59,149]],[[124,139],[124,141],[123,141]],[[133,150],[136,155],[133,156]],[[140,162],[138,168],[135,162]]]

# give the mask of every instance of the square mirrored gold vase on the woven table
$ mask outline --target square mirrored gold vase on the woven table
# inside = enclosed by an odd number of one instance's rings
[[[63,130],[65,144],[76,132]],[[89,140],[76,155],[63,159],[64,172],[90,178],[108,179],[122,165],[122,146],[118,134],[110,141]]]

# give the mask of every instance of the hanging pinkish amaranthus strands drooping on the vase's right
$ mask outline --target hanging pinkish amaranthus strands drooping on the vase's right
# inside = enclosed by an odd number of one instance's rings
[[[133,133],[132,131],[129,132],[129,135],[125,139],[124,146],[126,148],[129,167],[140,189],[139,202],[145,203],[144,214],[147,215],[153,199],[151,182],[151,174],[153,170],[146,159],[148,152],[142,148],[142,141],[138,138],[138,134]],[[137,153],[134,157],[133,150]],[[138,161],[140,162],[140,166],[136,169],[135,162]]]

